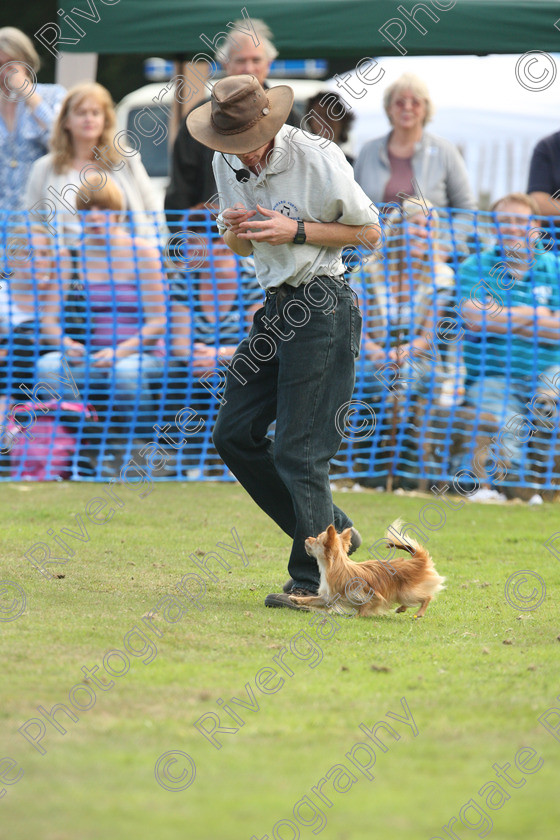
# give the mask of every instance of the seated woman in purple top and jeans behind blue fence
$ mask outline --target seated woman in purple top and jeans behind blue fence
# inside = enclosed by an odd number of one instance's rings
[[[121,225],[122,195],[107,181],[98,190],[83,187],[76,207],[83,214],[76,279],[83,286],[87,321],[83,342],[68,320],[68,303],[51,301],[45,327],[59,350],[42,356],[40,378],[63,373],[63,355],[84,402],[121,418],[127,434],[153,436],[154,402],[150,383],[163,367],[154,345],[165,324],[163,268],[159,252],[132,238]],[[64,395],[69,398],[69,393]]]

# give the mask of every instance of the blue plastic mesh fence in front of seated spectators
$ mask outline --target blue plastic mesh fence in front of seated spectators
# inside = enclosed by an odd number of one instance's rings
[[[348,249],[362,347],[334,477],[558,485],[558,230],[513,209],[405,205],[373,256]],[[231,480],[212,429],[264,295],[207,212],[167,222],[0,218],[4,480]]]

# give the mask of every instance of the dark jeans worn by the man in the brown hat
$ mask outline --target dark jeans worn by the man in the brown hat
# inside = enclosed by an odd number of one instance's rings
[[[289,289],[283,300],[280,294],[267,295],[232,359],[214,428],[214,445],[227,466],[293,539],[290,575],[312,591],[320,576],[306,554],[306,538],[332,522],[338,531],[352,525],[333,505],[329,461],[342,440],[361,335],[350,287],[321,277],[322,287],[309,291],[314,283],[308,284],[309,297],[303,287]],[[327,304],[311,302],[324,291]],[[303,323],[296,326],[296,321]],[[274,420],[272,441],[267,430]]]

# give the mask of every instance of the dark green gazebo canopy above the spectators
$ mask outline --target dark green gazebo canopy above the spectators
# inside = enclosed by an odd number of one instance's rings
[[[266,21],[282,58],[328,58],[334,68],[355,65],[365,56],[560,50],[557,0],[251,0],[246,7],[242,0],[70,0],[59,5],[63,14],[59,11],[52,24],[60,26],[66,42],[77,42],[60,43],[58,49],[69,52],[192,58],[211,53],[201,35],[214,41],[228,22],[244,15]],[[53,33],[45,31],[45,37],[52,40]]]

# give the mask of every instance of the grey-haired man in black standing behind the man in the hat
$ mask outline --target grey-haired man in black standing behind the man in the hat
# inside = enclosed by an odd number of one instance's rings
[[[252,33],[248,34],[247,22],[236,21],[224,43],[216,50],[215,58],[223,66],[226,76],[252,75],[266,89],[270,65],[278,51],[270,40],[270,29],[262,20],[251,19],[251,28]],[[299,122],[300,114],[292,108],[287,123],[297,127]],[[191,137],[183,120],[173,146],[171,179],[165,196],[166,210],[202,208],[216,195],[213,154]],[[170,229],[175,230],[178,225],[178,213],[172,212]]]

